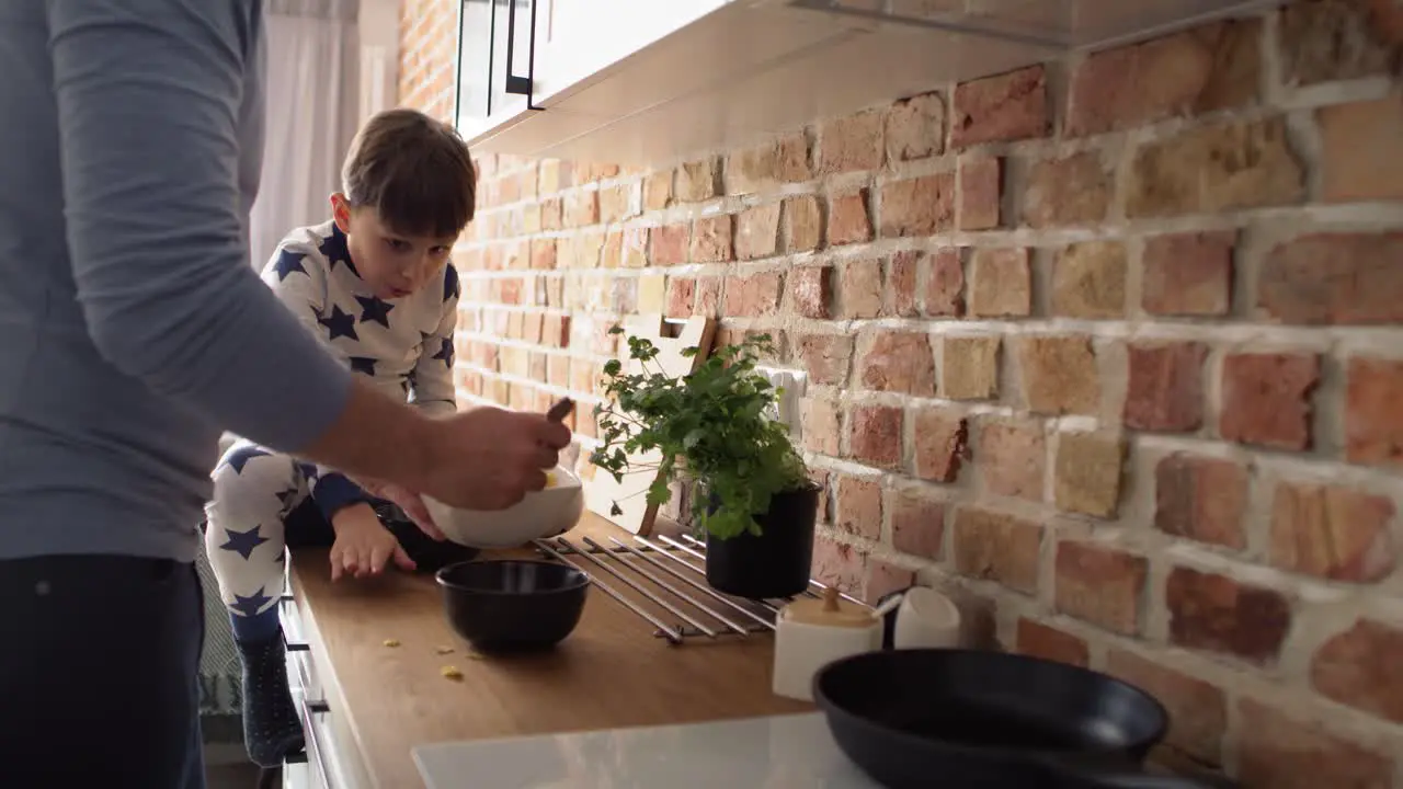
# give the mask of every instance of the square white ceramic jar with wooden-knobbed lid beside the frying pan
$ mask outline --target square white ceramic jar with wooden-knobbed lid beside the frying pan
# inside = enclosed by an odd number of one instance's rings
[[[881,649],[882,619],[861,605],[824,590],[822,599],[796,599],[774,623],[772,689],[777,696],[811,702],[812,682],[829,663]]]

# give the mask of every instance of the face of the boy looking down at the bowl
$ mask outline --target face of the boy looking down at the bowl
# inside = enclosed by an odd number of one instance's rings
[[[397,233],[375,209],[351,208],[341,192],[331,195],[331,216],[347,236],[361,279],[380,299],[398,299],[422,288],[448,264],[456,240]]]

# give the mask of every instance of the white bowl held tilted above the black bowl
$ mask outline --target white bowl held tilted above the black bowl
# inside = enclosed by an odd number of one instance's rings
[[[518,548],[533,539],[563,535],[585,511],[579,477],[557,466],[554,484],[526,494],[506,510],[459,510],[428,496],[424,504],[448,539],[469,548]]]

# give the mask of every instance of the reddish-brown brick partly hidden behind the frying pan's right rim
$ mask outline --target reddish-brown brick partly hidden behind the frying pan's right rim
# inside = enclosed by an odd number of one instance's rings
[[[1135,653],[1111,649],[1106,671],[1159,699],[1169,712],[1164,744],[1200,764],[1222,764],[1228,701],[1222,691]]]

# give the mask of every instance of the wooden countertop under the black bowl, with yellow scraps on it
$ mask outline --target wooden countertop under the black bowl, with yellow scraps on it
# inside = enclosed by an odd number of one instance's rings
[[[578,546],[582,535],[607,543],[609,535],[624,533],[586,514],[565,536]],[[494,555],[522,553],[535,555]],[[327,552],[302,550],[293,556],[292,583],[325,694],[340,705],[372,786],[422,786],[410,750],[427,743],[812,709],[770,692],[773,633],[669,646],[599,588],[554,651],[483,658],[449,626],[429,576],[390,573],[373,583],[333,584]],[[400,646],[387,647],[386,639]],[[438,654],[441,646],[455,651]],[[445,678],[445,665],[457,667],[462,681]]]

